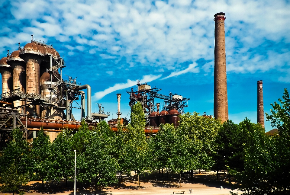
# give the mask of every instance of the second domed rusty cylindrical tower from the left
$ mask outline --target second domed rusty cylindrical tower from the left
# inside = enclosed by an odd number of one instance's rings
[[[7,59],[7,64],[13,69],[13,90],[18,89],[21,92],[26,91],[26,73],[25,62],[19,57],[20,50],[11,53]],[[25,105],[26,101],[14,101],[14,107]],[[26,113],[25,107],[18,108],[19,113]]]

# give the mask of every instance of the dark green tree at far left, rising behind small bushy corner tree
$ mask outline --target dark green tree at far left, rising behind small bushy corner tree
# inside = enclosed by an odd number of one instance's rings
[[[13,140],[3,149],[0,157],[0,173],[8,169],[12,163],[18,168],[18,173],[29,173],[29,178],[33,179],[34,161],[31,156],[31,149],[26,140],[22,140],[23,132],[19,129],[12,131]]]

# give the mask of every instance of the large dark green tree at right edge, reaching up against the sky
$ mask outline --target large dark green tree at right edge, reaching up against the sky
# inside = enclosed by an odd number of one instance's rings
[[[260,124],[248,132],[250,142],[245,143],[243,171],[234,171],[244,194],[290,193],[290,98],[287,89],[279,103],[274,102],[271,115],[266,118],[279,135],[269,136]],[[252,125],[254,126],[254,125]]]

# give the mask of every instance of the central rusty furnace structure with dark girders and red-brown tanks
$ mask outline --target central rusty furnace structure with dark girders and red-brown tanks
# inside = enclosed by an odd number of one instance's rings
[[[142,104],[147,125],[159,126],[162,123],[173,123],[175,126],[178,126],[178,116],[184,113],[184,108],[188,107],[187,103],[190,99],[171,92],[169,92],[169,96],[159,94],[160,90],[156,87],[151,88],[147,83],[142,84],[137,80],[137,91],[134,91],[134,88],[131,88],[131,91],[127,91],[130,95],[129,106],[132,108],[138,101]],[[163,100],[164,105],[160,113],[160,103],[157,103],[155,108],[155,98]]]

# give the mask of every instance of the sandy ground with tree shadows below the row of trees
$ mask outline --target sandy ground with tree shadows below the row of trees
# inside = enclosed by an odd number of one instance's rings
[[[134,175],[134,174],[133,174]],[[101,191],[97,191],[97,194],[116,194],[116,195],[126,195],[126,194],[158,194],[158,195],[168,195],[181,194],[183,191],[185,194],[189,194],[189,189],[192,189],[192,194],[196,195],[224,195],[230,194],[230,191],[241,193],[237,190],[231,190],[232,185],[227,182],[226,174],[221,175],[221,181],[215,180],[214,172],[204,172],[202,174],[195,174],[193,180],[190,179],[189,175],[182,178],[181,188],[179,188],[178,175],[175,175],[172,181],[172,176],[167,179],[166,174],[163,178],[160,177],[161,174],[147,175],[146,177],[141,177],[140,190],[138,189],[138,182],[131,181],[127,176],[123,176],[123,182],[121,186],[107,187]],[[166,177],[166,178],[164,178]],[[132,178],[133,180],[133,178]],[[27,185],[22,187],[26,195],[43,195],[43,194],[57,194],[57,195],[73,195],[73,182],[68,182],[68,187],[65,187],[65,182],[61,182],[61,186],[58,189],[56,183],[44,183],[44,190],[42,190],[41,181],[31,181]],[[78,195],[94,195],[95,190],[93,186],[85,187],[85,189],[80,190],[77,184],[76,194]],[[223,186],[221,190],[220,187]],[[0,193],[0,195],[10,195],[12,193]]]

